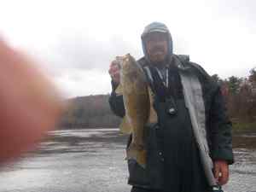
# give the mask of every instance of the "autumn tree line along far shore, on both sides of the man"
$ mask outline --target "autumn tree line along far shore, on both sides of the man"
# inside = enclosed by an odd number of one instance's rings
[[[231,76],[220,79],[212,75],[220,87],[230,119],[234,125],[256,125],[256,68],[245,78]],[[61,117],[61,128],[118,127],[120,120],[108,104],[109,95],[79,96],[67,100],[68,108]],[[256,130],[256,129],[255,129]]]

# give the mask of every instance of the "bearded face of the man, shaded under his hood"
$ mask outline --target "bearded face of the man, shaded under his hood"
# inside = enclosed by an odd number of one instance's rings
[[[162,62],[168,55],[168,43],[166,33],[152,32],[145,37],[145,44],[149,60],[153,62]]]

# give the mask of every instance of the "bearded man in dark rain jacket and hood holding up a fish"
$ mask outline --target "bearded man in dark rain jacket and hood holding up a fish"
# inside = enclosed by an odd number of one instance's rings
[[[220,87],[205,70],[175,55],[172,36],[165,24],[153,22],[142,34],[144,56],[138,63],[154,92],[158,122],[148,125],[147,166],[128,160],[132,192],[207,192],[229,179],[234,162],[231,123]],[[115,94],[119,66],[113,61],[109,73],[113,113],[125,116],[123,96]],[[131,143],[131,137],[128,146]]]

